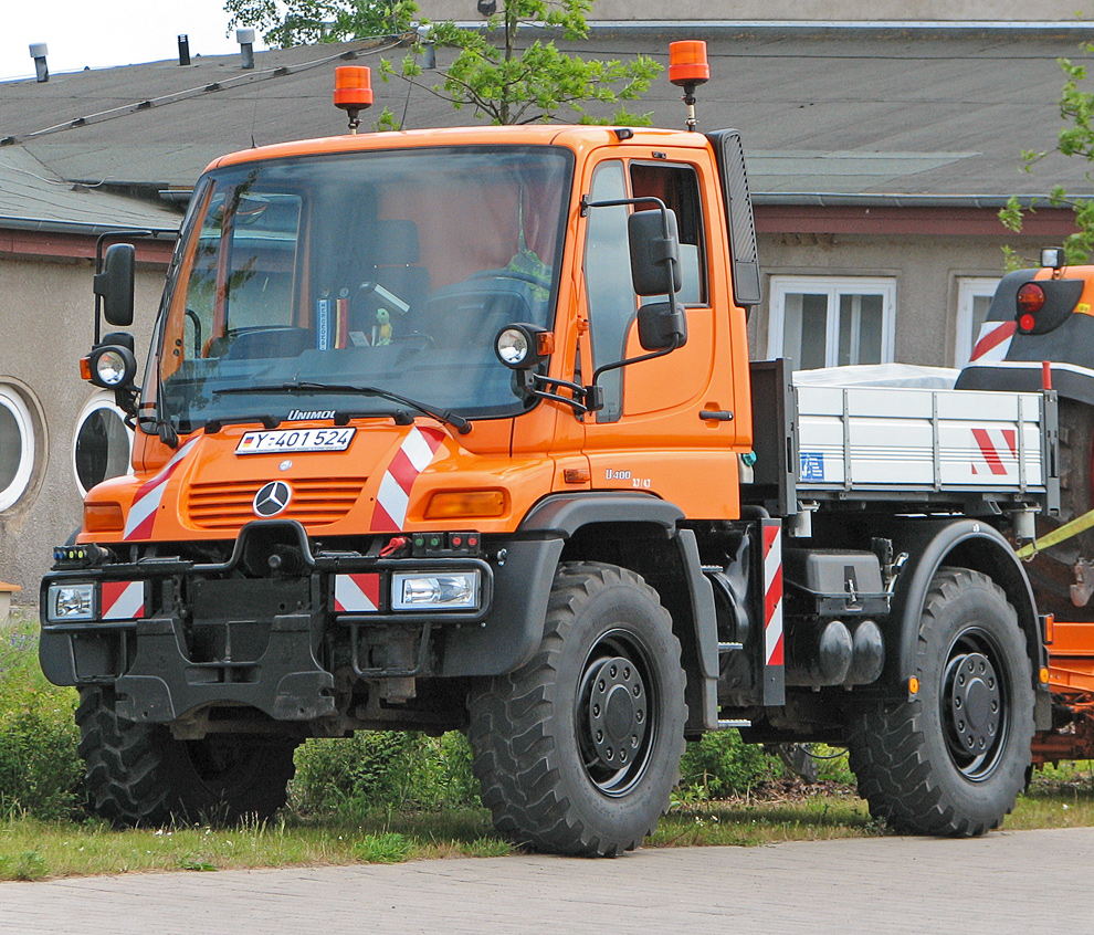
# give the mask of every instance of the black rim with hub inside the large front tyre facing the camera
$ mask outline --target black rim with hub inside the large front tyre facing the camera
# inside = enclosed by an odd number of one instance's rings
[[[632,633],[613,630],[589,652],[578,685],[575,729],[586,776],[620,798],[642,779],[658,734],[661,685]]]

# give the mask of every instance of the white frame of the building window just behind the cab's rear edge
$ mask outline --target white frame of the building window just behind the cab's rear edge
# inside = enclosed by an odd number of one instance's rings
[[[771,276],[768,305],[767,354],[782,357],[786,327],[786,297],[790,293],[828,296],[828,328],[824,336],[824,366],[834,367],[840,353],[840,296],[882,297],[882,364],[891,364],[896,344],[896,280],[887,276]]]

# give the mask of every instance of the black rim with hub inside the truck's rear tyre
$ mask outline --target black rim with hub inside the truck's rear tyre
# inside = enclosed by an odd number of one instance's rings
[[[972,782],[987,779],[1007,748],[1006,675],[1001,654],[985,631],[966,630],[950,647],[940,698],[946,748],[958,771]]]

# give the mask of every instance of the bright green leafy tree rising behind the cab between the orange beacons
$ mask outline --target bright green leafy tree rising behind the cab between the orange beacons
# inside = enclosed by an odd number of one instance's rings
[[[631,114],[623,102],[649,91],[662,71],[660,63],[646,55],[627,63],[587,60],[560,52],[554,40],[539,35],[555,32],[568,40],[588,38],[586,15],[591,9],[592,0],[499,0],[485,29],[427,23],[401,66],[386,62],[381,75],[385,81],[401,77],[456,109],[472,107],[475,116],[494,124],[549,122],[564,109],[578,115],[581,123],[648,124],[649,115]],[[525,30],[536,32],[532,42],[518,41]],[[425,80],[421,59],[430,42],[459,50],[433,83]],[[593,118],[585,111],[589,103],[617,107],[611,117]]]

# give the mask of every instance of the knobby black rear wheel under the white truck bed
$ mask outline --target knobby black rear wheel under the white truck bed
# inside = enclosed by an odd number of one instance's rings
[[[913,701],[862,703],[850,765],[874,818],[904,833],[998,828],[1025,785],[1033,682],[1014,608],[990,578],[942,568],[919,621]]]

